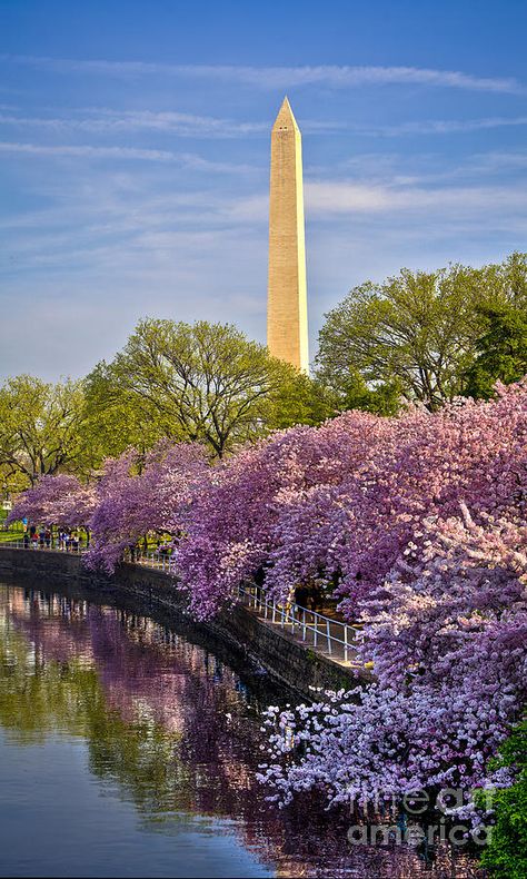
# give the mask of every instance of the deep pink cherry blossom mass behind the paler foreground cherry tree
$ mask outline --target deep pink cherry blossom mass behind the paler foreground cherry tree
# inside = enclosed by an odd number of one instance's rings
[[[465,501],[476,518],[521,494],[527,446],[525,384],[490,403],[456,402],[399,418],[347,413],[246,448],[210,471],[186,517],[178,574],[199,615],[232,600],[240,580],[266,573],[287,599],[324,575],[340,583],[342,610],[377,589],[425,518]]]

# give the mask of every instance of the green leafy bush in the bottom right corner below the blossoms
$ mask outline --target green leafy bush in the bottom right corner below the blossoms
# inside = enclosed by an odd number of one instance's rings
[[[481,865],[491,875],[504,879],[525,879],[527,876],[527,721],[520,723],[500,748],[500,757],[493,769],[514,767],[517,781],[510,788],[493,791],[496,826],[484,851]],[[477,803],[486,808],[487,793],[477,796]]]

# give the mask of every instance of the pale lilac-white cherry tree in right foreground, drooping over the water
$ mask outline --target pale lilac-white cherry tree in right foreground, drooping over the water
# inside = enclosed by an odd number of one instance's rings
[[[261,778],[289,801],[318,788],[362,803],[430,788],[486,782],[525,703],[527,527],[463,516],[425,525],[367,604],[361,659],[376,682],[271,708]]]

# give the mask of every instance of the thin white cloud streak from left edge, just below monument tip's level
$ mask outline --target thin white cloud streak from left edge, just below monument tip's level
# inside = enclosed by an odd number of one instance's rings
[[[217,171],[219,174],[248,174],[252,171],[251,166],[240,164],[229,164],[211,161],[192,152],[172,152],[166,149],[140,149],[137,147],[101,147],[82,145],[46,145],[46,144],[17,144],[11,141],[0,141],[0,152],[12,152],[14,155],[33,155],[50,157],[70,157],[81,159],[118,159],[118,160],[139,160],[163,164],[177,164],[182,168],[196,170]]]

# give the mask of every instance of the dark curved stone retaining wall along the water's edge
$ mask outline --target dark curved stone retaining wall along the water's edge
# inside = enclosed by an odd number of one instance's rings
[[[155,606],[162,608],[169,619],[172,616],[179,624],[185,622],[189,638],[196,635],[201,643],[203,638],[210,640],[210,649],[218,640],[225,642],[253,668],[260,666],[276,681],[306,698],[311,695],[310,687],[336,690],[358,682],[351,670],[305,648],[288,633],[271,629],[241,604],[222,611],[210,622],[197,623],[186,613],[183,596],[162,571],[122,564],[113,576],[105,576],[88,571],[77,555],[0,547],[0,577],[2,575],[31,577],[33,584],[43,577],[48,586],[74,584],[98,596],[111,595],[117,602],[133,596],[146,615],[151,614]]]

